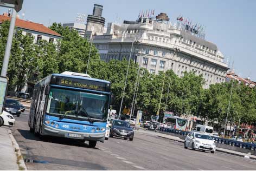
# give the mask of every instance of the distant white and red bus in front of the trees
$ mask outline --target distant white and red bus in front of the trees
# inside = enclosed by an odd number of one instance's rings
[[[176,130],[187,130],[188,120],[181,119],[178,116],[169,116],[164,120],[164,123],[167,123],[169,128],[174,128]]]

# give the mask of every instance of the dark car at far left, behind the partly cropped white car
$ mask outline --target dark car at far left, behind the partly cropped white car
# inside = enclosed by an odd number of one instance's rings
[[[17,115],[20,117],[21,115],[21,106],[17,100],[7,98],[4,103],[4,110],[10,114]]]

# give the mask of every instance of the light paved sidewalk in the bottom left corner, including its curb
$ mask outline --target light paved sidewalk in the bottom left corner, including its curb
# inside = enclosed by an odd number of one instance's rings
[[[8,127],[0,127],[1,170],[26,170],[20,148]]]

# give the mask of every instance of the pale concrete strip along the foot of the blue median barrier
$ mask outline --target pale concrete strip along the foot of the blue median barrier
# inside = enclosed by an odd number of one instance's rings
[[[159,137],[162,137],[164,139],[174,140],[174,141],[178,141],[178,142],[184,142],[184,140],[182,140],[182,139],[180,139],[179,137],[176,137],[176,136],[161,134],[161,133],[156,133],[156,135],[159,136]],[[219,151],[219,152],[223,152],[223,153],[238,155],[238,156],[242,156],[242,157],[249,156],[250,159],[256,159],[255,155],[241,153],[241,152],[235,152],[235,151],[229,150],[229,149],[216,147],[216,150]]]

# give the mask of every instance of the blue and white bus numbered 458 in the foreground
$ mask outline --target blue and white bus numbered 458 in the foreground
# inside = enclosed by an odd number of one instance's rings
[[[49,75],[34,87],[30,131],[89,141],[94,148],[105,140],[110,100],[108,81],[67,71]]]

